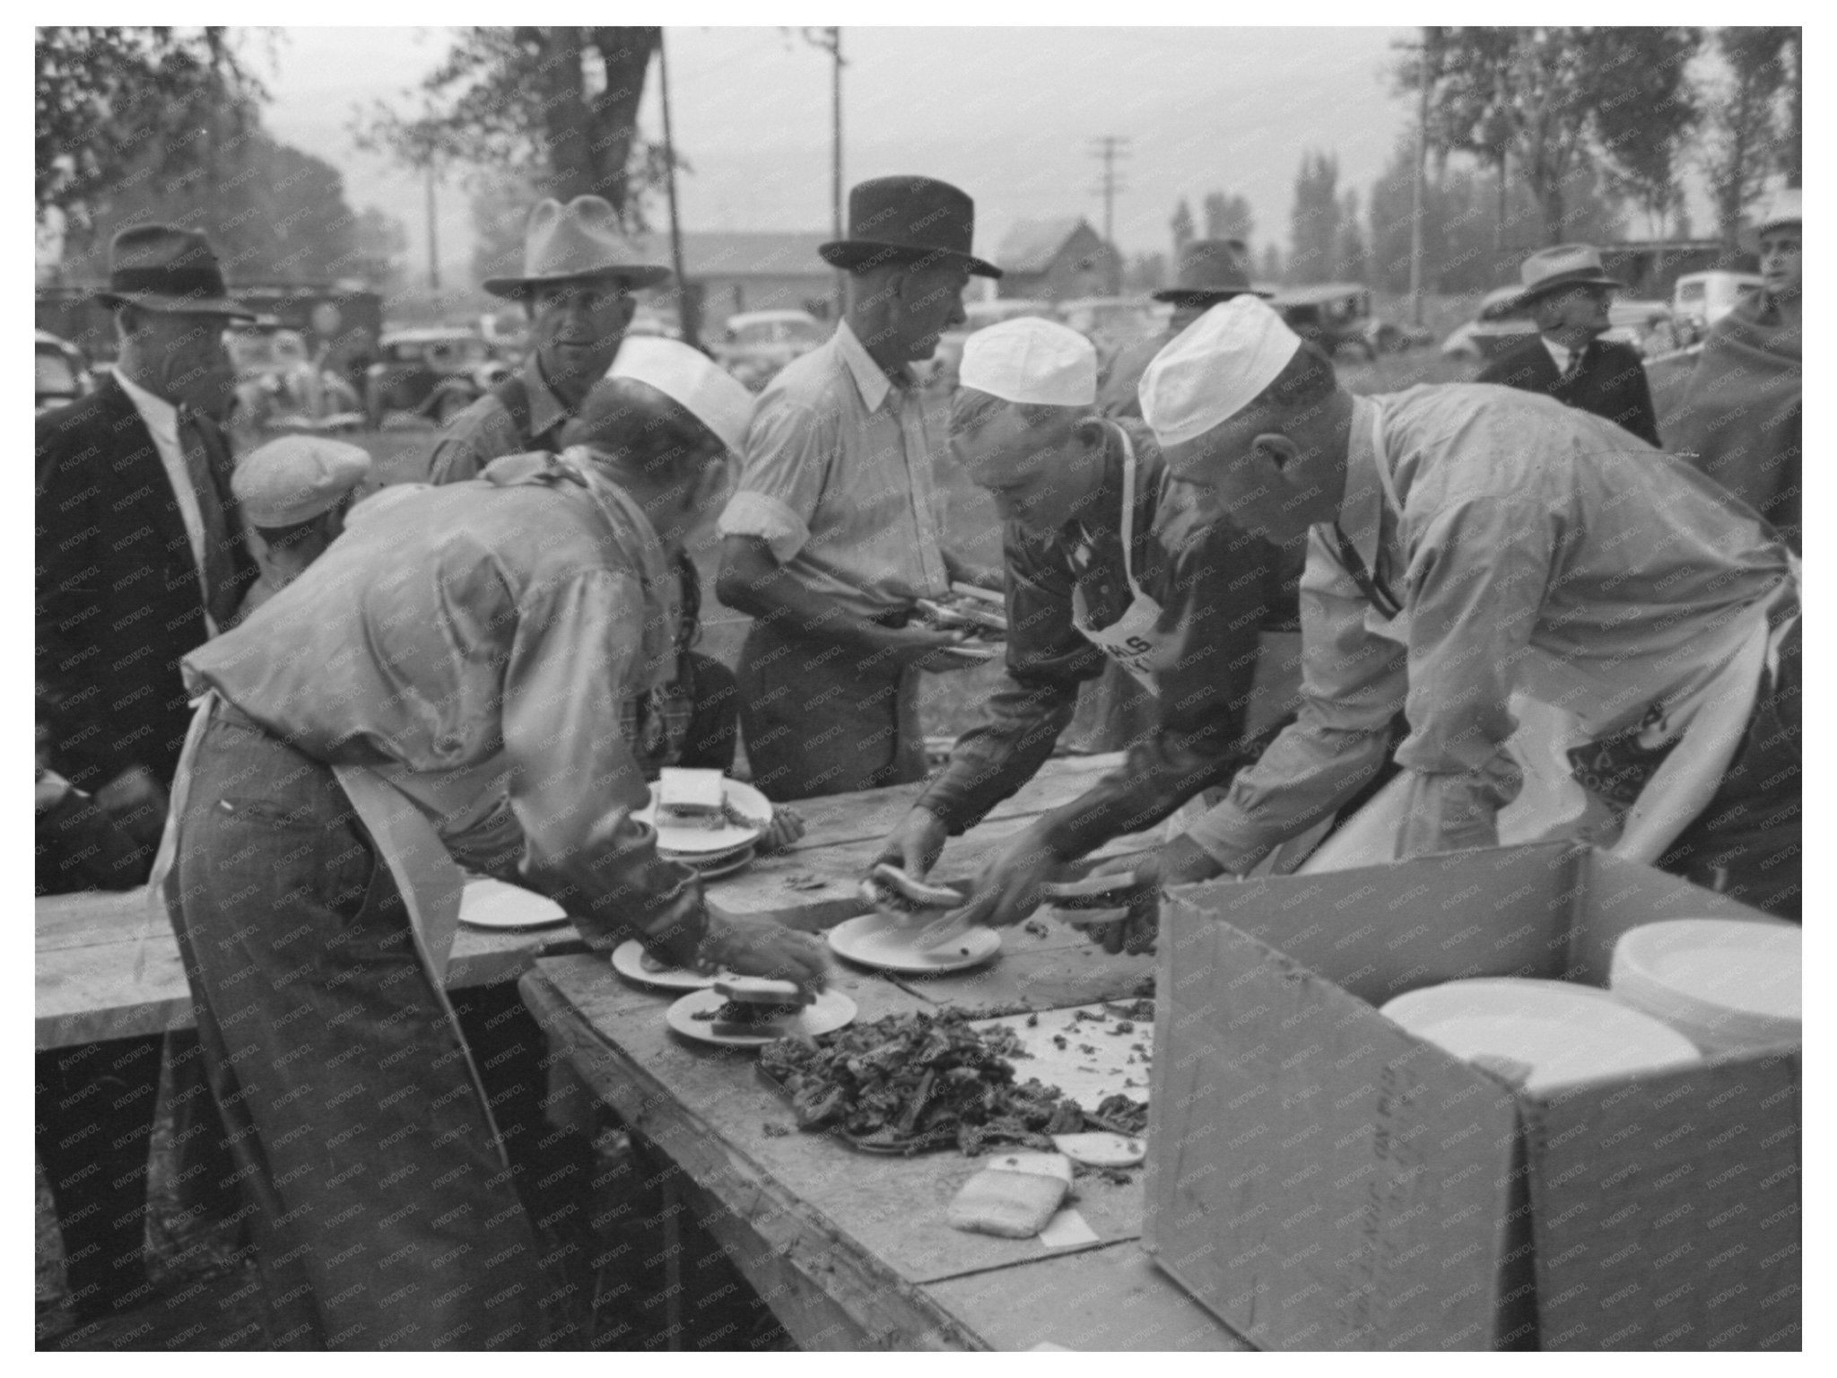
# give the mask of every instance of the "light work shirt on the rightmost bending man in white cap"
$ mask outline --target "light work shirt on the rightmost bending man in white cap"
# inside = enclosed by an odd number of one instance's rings
[[[1383,496],[1372,419],[1402,511]],[[1414,772],[1409,851],[1492,845],[1517,796],[1514,689],[1602,739],[1692,682],[1707,649],[1791,577],[1760,518],[1611,421],[1488,384],[1354,399],[1339,525],[1402,601],[1407,649],[1310,535],[1302,709],[1192,840],[1231,871],[1334,812],[1396,759]],[[1541,652],[1541,654],[1534,654]]]

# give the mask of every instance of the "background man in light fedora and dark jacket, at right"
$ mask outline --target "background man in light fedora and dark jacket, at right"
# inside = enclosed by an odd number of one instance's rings
[[[1538,334],[1508,349],[1475,378],[1607,417],[1646,445],[1659,443],[1659,417],[1646,386],[1646,366],[1631,345],[1602,340],[1607,303],[1624,283],[1602,270],[1589,244],[1539,248],[1519,268],[1519,303],[1538,322]]]

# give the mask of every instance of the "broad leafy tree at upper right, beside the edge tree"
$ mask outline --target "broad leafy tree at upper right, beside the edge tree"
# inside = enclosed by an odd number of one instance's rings
[[[1501,230],[1506,208],[1506,164],[1530,189],[1541,217],[1543,243],[1572,235],[1582,204],[1578,182],[1602,156],[1602,110],[1624,130],[1640,121],[1675,132],[1686,107],[1666,96],[1657,73],[1650,86],[1642,64],[1655,50],[1688,42],[1688,29],[1624,28],[1444,28],[1427,53],[1413,51],[1398,66],[1398,83],[1429,83],[1427,141],[1438,154],[1470,152],[1499,171]],[[1628,90],[1631,86],[1631,90]],[[1662,141],[1657,138],[1655,141]]]

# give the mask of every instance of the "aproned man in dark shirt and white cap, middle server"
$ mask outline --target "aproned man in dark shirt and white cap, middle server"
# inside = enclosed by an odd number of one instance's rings
[[[1078,799],[1025,829],[977,880],[974,922],[1016,922],[1067,860],[1146,829],[1229,781],[1258,634],[1295,616],[1279,551],[1168,491],[1146,426],[1095,412],[1097,351],[1023,318],[970,336],[952,435],[1005,520],[1007,676],[882,849],[909,875],[946,836],[1025,785],[1073,717],[1078,685],[1121,665],[1159,696],[1152,737]]]

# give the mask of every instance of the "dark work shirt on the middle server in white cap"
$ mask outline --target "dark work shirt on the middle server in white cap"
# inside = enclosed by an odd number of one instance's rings
[[[1293,627],[1293,582],[1280,553],[1231,522],[1205,522],[1168,483],[1154,434],[1121,423],[1135,445],[1132,564],[1143,593],[1161,606],[1166,636],[1154,672],[1159,726],[1122,766],[1043,827],[1060,856],[1082,856],[1122,832],[1172,814],[1242,764],[1244,707],[1257,671],[1257,636]],[[1102,674],[1106,656],[1073,621],[1078,590],[1089,623],[1111,627],[1132,601],[1122,566],[1122,443],[1104,428],[1104,474],[1088,511],[1058,531],[1031,535],[1007,522],[1007,674],[964,733],[950,766],[918,803],[952,834],[1032,779],[1078,706],[1078,685]]]

